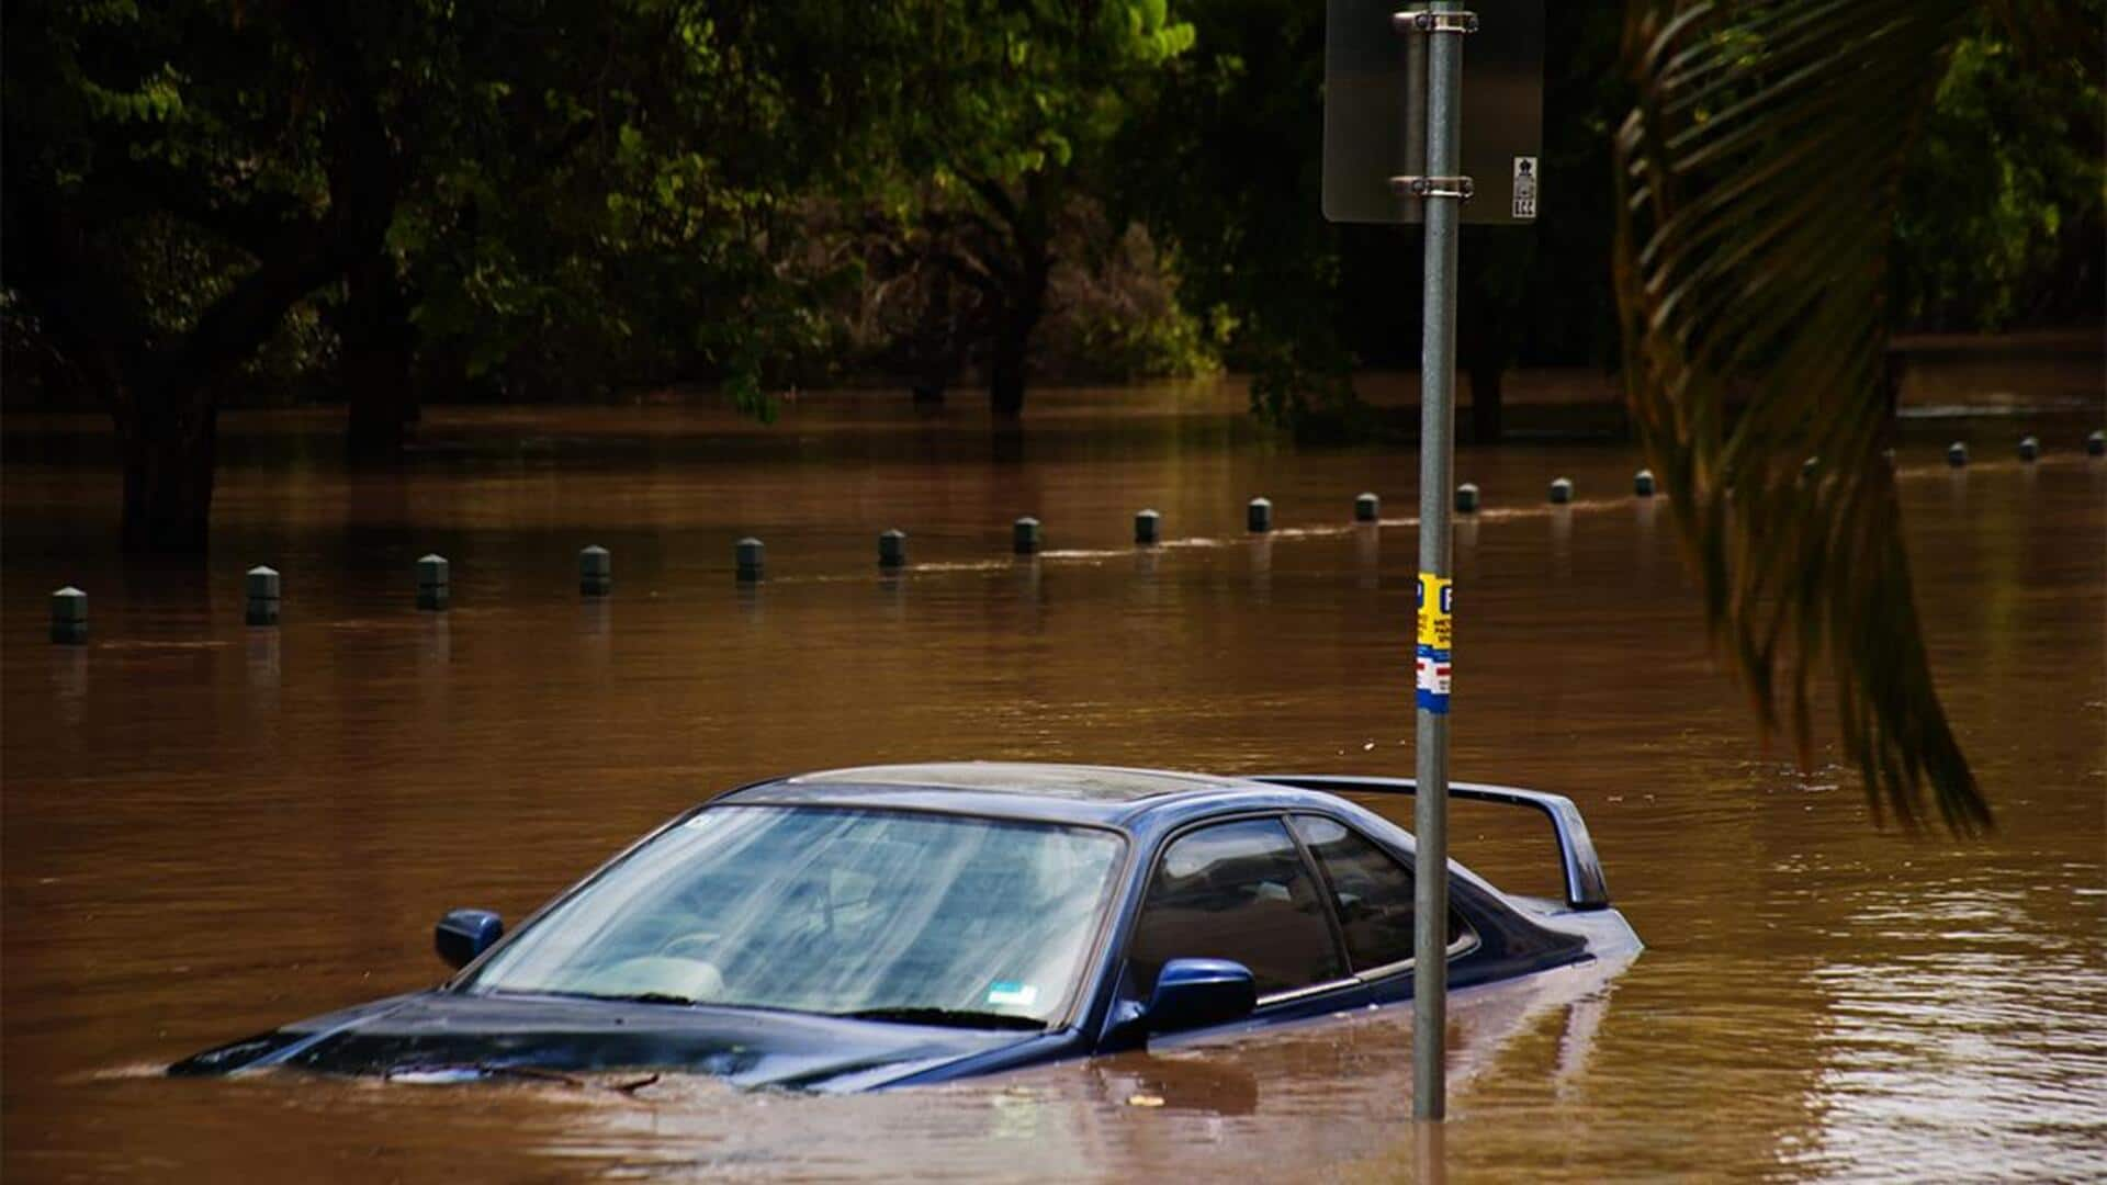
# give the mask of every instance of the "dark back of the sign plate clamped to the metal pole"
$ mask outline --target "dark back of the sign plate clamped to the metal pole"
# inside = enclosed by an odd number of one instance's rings
[[[1323,215],[1332,221],[1414,224],[1424,198],[1397,194],[1393,177],[1426,173],[1424,141],[1412,158],[1407,129],[1426,127],[1424,74],[1393,27],[1412,0],[1327,0],[1323,51]],[[1544,0],[1473,0],[1477,32],[1462,36],[1471,84],[1462,89],[1462,221],[1536,221],[1536,167],[1544,145]],[[1448,34],[1458,36],[1458,34]]]

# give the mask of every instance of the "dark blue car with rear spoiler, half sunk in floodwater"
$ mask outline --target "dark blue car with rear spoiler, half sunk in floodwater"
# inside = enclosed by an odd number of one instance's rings
[[[1412,835],[1344,793],[1410,780],[881,765],[731,791],[516,932],[457,909],[430,991],[287,1025],[177,1075],[411,1080],[668,1069],[868,1090],[1412,997]],[[1639,940],[1574,803],[1563,900],[1450,865],[1448,976],[1494,985]]]

